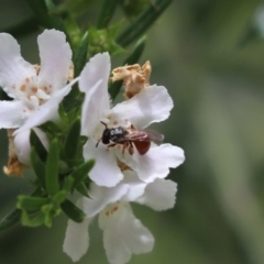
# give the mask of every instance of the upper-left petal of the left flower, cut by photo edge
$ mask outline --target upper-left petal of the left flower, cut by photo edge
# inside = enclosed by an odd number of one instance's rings
[[[34,67],[25,62],[18,42],[7,33],[0,33],[0,87],[12,98],[24,80],[35,76]]]

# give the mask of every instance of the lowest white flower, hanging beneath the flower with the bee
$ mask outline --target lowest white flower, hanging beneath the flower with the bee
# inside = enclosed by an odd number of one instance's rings
[[[86,212],[82,223],[68,220],[64,252],[74,262],[88,250],[88,227],[91,219],[99,213],[99,227],[103,231],[103,246],[111,264],[127,263],[132,254],[152,251],[154,238],[136,219],[130,201],[146,205],[154,210],[174,207],[176,184],[172,180],[156,178],[144,183],[131,170],[124,172],[124,179],[116,187],[107,188],[91,184],[90,198],[80,198],[77,205]]]

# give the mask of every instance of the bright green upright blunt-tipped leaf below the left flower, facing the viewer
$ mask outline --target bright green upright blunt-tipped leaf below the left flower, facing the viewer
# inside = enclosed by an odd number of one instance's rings
[[[50,146],[45,169],[46,190],[51,196],[55,195],[59,190],[58,166],[59,166],[59,145],[58,140],[54,139]]]

